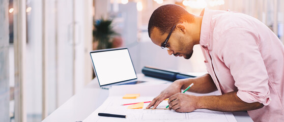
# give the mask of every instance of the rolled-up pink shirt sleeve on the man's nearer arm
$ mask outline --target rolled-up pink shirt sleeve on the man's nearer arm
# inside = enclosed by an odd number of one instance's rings
[[[270,103],[269,78],[260,50],[258,34],[233,27],[218,39],[219,52],[238,87],[237,96],[246,103]]]

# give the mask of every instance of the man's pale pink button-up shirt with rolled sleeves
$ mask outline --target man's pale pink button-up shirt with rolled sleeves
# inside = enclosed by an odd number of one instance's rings
[[[284,47],[262,22],[245,14],[205,9],[200,45],[221,94],[237,91],[254,121],[284,121]]]

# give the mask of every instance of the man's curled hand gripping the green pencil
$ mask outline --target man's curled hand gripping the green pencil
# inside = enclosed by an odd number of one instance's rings
[[[169,109],[173,109],[177,112],[191,112],[197,109],[197,101],[196,96],[178,93],[169,97],[167,102]]]

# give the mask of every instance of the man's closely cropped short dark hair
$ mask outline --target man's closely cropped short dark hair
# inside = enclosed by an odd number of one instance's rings
[[[165,34],[169,33],[172,27],[181,21],[192,23],[194,15],[188,13],[179,5],[168,4],[160,6],[150,17],[148,24],[149,37],[154,27],[157,27],[162,34]]]

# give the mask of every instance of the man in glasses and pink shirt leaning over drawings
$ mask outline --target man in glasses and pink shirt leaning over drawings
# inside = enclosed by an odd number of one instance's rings
[[[178,5],[156,9],[148,26],[152,42],[189,59],[200,44],[209,74],[173,82],[147,106],[169,98],[169,109],[248,111],[254,121],[284,120],[284,47],[262,22],[245,14],[204,9],[201,16]],[[220,96],[181,94],[210,93]]]

